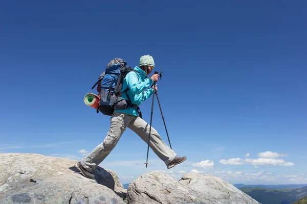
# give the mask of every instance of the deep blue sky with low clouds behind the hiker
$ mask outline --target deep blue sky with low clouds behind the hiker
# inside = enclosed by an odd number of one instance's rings
[[[0,8],[0,152],[80,160],[109,116],[83,103],[113,58],[155,59],[167,170],[127,130],[100,164],[121,183],[149,171],[244,184],[307,183],[307,2],[6,1]],[[151,98],[141,105],[150,121]],[[168,144],[157,100],[152,126]]]

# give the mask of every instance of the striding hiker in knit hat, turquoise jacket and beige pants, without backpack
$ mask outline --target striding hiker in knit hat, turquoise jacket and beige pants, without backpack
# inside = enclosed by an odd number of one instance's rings
[[[153,74],[150,78],[147,78],[147,75],[151,73],[154,67],[155,62],[151,56],[142,56],[140,58],[139,66],[134,68],[135,71],[128,72],[124,78],[121,90],[123,92],[123,90],[126,90],[127,88],[129,89],[120,97],[129,100],[136,106],[140,106],[142,101],[153,94],[153,89],[156,91],[158,90],[157,85],[156,87],[152,86],[151,88],[150,86],[153,82],[159,80],[159,74]],[[85,177],[89,179],[95,178],[91,173],[92,170],[95,169],[113,150],[126,127],[138,134],[142,140],[148,144],[150,125],[140,117],[139,111],[134,107],[129,107],[123,110],[116,110],[115,108],[114,113],[111,116],[111,126],[109,127],[103,142],[76,164],[78,170],[80,170]],[[149,146],[166,164],[168,169],[187,159],[186,157],[178,157],[176,153],[164,143],[158,132],[152,127]]]

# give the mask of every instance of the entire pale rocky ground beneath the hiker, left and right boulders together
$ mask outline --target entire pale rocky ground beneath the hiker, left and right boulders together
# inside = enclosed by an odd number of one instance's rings
[[[97,167],[90,180],[76,163],[38,154],[0,154],[0,203],[259,203],[216,176],[187,173],[176,181],[149,172],[126,190],[114,171]]]

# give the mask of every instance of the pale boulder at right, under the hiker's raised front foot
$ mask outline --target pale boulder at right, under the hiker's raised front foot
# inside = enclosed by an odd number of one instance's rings
[[[149,172],[128,187],[129,204],[258,204],[231,184],[215,176],[185,174],[178,182],[169,175]]]

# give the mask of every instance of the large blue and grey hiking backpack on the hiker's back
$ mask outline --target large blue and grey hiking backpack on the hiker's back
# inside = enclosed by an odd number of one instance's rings
[[[140,108],[130,102],[131,100],[128,94],[128,101],[124,98],[120,98],[122,94],[129,90],[129,88],[126,88],[121,92],[124,78],[130,71],[137,72],[136,70],[131,69],[131,67],[127,67],[127,63],[120,58],[115,58],[106,65],[105,71],[100,74],[98,81],[92,87],[92,89],[94,89],[97,85],[98,96],[100,97],[97,113],[100,111],[104,115],[111,116],[113,115],[114,110],[123,110],[133,107],[138,111],[141,117]]]

